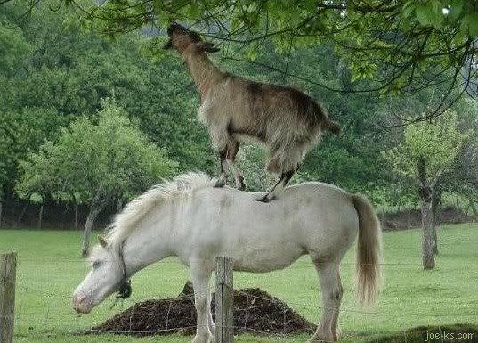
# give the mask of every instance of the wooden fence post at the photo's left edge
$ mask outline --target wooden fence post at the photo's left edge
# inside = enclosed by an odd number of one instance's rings
[[[17,253],[0,255],[0,343],[13,342]]]

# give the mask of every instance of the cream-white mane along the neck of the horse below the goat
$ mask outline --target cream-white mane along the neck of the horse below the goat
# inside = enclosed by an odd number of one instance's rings
[[[115,216],[113,223],[109,225],[107,241],[112,245],[120,244],[134,231],[141,218],[158,204],[173,198],[188,197],[192,192],[212,185],[213,180],[207,174],[190,172],[153,186],[131,200],[123,211]]]

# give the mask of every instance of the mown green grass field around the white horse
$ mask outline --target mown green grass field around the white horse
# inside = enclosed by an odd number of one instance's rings
[[[352,290],[354,254],[344,258],[344,302],[341,326],[345,343],[375,342],[381,335],[418,325],[478,324],[478,225],[444,226],[439,231],[437,268],[424,272],[420,259],[420,231],[385,233],[385,282],[377,306],[362,310]],[[76,332],[101,323],[134,302],[176,296],[188,271],[174,258],[151,265],[133,278],[133,297],[110,308],[107,300],[92,314],[79,315],[70,294],[85,276],[79,258],[79,232],[0,230],[0,251],[17,251],[16,342],[189,342],[179,335],[152,338],[85,336]],[[316,322],[320,290],[312,263],[301,258],[286,270],[270,274],[234,274],[235,287],[260,287],[281,298]],[[369,312],[369,313],[364,313]],[[292,337],[239,336],[245,342],[304,342]]]

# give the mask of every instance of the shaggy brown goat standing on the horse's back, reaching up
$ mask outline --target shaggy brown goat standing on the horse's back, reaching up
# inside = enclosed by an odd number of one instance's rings
[[[240,142],[254,139],[269,150],[267,170],[280,180],[263,202],[273,200],[288,184],[307,151],[319,142],[322,131],[338,135],[340,126],[328,118],[327,111],[304,94],[288,86],[269,85],[239,78],[215,67],[206,53],[219,51],[202,41],[197,32],[174,23],[167,30],[165,48],[174,48],[186,61],[198,86],[200,120],[206,125],[215,151],[221,159],[221,175],[216,186],[226,184],[228,167],[236,184],[244,189],[244,177],[234,161]]]

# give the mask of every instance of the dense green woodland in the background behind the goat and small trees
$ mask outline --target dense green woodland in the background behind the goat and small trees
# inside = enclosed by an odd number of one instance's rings
[[[280,10],[285,5],[277,6],[276,10]],[[161,30],[155,27],[156,23],[108,40],[101,31],[88,29],[89,24],[85,28],[87,22],[77,16],[71,20],[71,8],[63,6],[56,12],[51,8],[36,6],[30,15],[23,16],[28,2],[0,5],[0,26],[7,28],[9,34],[13,32],[21,42],[6,44],[2,50],[5,55],[17,57],[15,68],[8,67],[8,63],[0,67],[0,185],[4,190],[4,224],[31,225],[30,209],[38,206],[31,198],[20,203],[13,190],[19,181],[19,161],[26,159],[28,151],[38,152],[46,140],[58,143],[60,127],[67,127],[78,117],[85,116],[97,123],[96,113],[104,97],[115,98],[150,142],[178,162],[177,172],[215,172],[215,156],[207,132],[195,113],[199,102],[195,86],[179,58],[162,54],[163,38],[158,37]],[[166,21],[161,25],[166,25]],[[185,21],[194,24],[192,20]],[[193,29],[205,34],[205,39],[214,39],[208,36],[217,36],[221,31],[207,20],[194,24]],[[238,35],[236,38],[240,39],[252,37],[247,29]],[[383,211],[393,210],[397,205],[415,206],[418,201],[415,184],[409,178],[401,178],[397,183],[396,173],[384,163],[380,152],[401,144],[404,139],[401,126],[408,123],[403,118],[414,121],[422,117],[422,113],[429,111],[428,100],[433,98],[429,107],[440,102],[447,94],[447,86],[434,86],[407,98],[400,94],[361,93],[365,88],[377,86],[377,79],[354,77],[346,56],[337,50],[333,40],[324,39],[313,46],[294,44],[290,49],[290,41],[284,40],[286,48],[279,49],[274,39],[264,37],[247,45],[224,40],[222,53],[211,57],[223,69],[237,75],[294,86],[311,94],[343,125],[343,135],[325,136],[308,154],[296,182],[319,180],[351,192],[366,192]],[[424,66],[425,69],[417,69],[422,76],[427,75],[426,63]],[[453,106],[461,127],[476,127],[477,109],[473,103],[476,102],[458,102]],[[473,174],[474,162],[478,160],[474,159],[476,146],[470,137],[446,172],[447,177],[442,177],[444,203],[450,201],[450,194],[454,197],[458,194],[466,203],[468,199],[476,200],[478,184]],[[239,152],[239,159],[247,174],[248,190],[263,190],[269,182],[263,172],[263,151],[247,147],[244,153]],[[77,204],[86,200],[81,193],[76,194],[60,203],[52,202],[48,193],[43,194],[45,223],[64,227],[63,223],[70,217],[73,219],[74,212],[83,220],[85,207],[78,208]],[[113,211],[118,202],[121,200],[116,197],[109,200],[107,210]],[[57,216],[60,212],[65,214],[61,219]],[[20,221],[19,217],[23,219]]]

